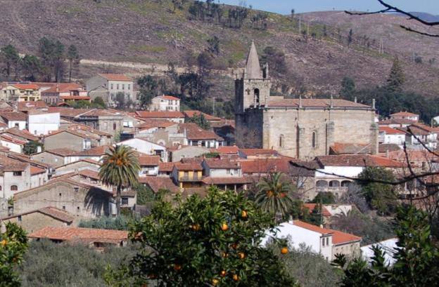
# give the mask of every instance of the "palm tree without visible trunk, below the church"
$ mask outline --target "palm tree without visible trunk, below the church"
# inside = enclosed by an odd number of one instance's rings
[[[257,184],[255,202],[263,211],[282,215],[284,218],[293,206],[294,187],[282,180],[282,173],[270,173]]]

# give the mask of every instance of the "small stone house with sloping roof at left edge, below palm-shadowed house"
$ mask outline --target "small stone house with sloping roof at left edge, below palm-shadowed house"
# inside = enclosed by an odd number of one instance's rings
[[[73,224],[75,217],[66,211],[51,206],[26,213],[0,218],[0,222],[12,222],[25,229],[27,234],[44,227],[64,227]]]

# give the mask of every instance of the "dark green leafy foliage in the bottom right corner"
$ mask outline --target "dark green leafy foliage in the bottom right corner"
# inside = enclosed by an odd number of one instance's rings
[[[337,255],[334,263],[345,272],[342,286],[438,286],[439,251],[431,239],[426,213],[413,206],[399,208],[395,232],[398,243],[393,267],[386,264],[384,251],[378,247],[371,265],[362,259],[347,262]]]

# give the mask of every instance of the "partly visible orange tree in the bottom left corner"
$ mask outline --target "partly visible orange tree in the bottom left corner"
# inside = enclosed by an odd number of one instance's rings
[[[1,223],[0,226],[0,286],[20,286],[15,267],[23,260],[27,237],[18,225],[8,222],[6,226]]]

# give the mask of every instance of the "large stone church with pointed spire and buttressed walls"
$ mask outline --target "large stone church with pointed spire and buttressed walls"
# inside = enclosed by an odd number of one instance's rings
[[[270,95],[268,65],[255,44],[235,80],[236,144],[276,149],[296,159],[333,153],[378,152],[375,109],[338,99],[286,99]]]

